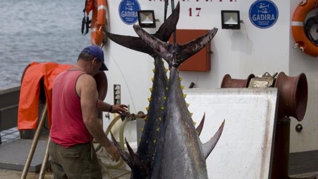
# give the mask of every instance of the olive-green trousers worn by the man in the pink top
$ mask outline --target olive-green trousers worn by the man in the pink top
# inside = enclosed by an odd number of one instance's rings
[[[64,148],[50,141],[49,154],[54,179],[102,178],[101,167],[91,143]]]

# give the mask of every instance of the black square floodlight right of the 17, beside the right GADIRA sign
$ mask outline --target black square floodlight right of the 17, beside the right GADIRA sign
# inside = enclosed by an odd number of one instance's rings
[[[222,10],[222,29],[241,29],[240,11]]]

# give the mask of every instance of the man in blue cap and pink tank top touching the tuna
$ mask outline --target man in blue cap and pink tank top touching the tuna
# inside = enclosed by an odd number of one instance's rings
[[[91,144],[93,138],[105,147],[113,161],[120,158],[97,120],[97,109],[119,113],[126,112],[127,106],[98,100],[93,75],[99,70],[108,70],[103,50],[89,46],[79,54],[72,68],[55,78],[49,144],[54,178],[102,178]]]

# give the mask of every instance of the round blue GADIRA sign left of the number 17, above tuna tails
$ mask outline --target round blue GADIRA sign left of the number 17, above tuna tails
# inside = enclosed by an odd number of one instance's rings
[[[122,21],[128,25],[135,24],[138,21],[138,10],[140,10],[140,5],[136,0],[123,0],[118,8]]]

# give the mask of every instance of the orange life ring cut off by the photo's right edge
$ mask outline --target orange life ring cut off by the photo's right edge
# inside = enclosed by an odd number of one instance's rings
[[[296,45],[310,56],[318,56],[318,47],[306,36],[304,21],[307,13],[318,6],[316,0],[303,0],[296,8],[291,22],[291,30]]]

